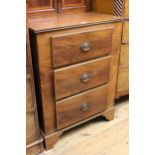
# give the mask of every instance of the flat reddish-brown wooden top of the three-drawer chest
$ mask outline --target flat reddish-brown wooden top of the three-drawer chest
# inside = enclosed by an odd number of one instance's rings
[[[33,18],[28,20],[28,25],[30,30],[34,31],[35,33],[40,33],[92,24],[118,22],[121,20],[121,17],[102,13],[86,12],[79,14],[58,14],[52,17]]]

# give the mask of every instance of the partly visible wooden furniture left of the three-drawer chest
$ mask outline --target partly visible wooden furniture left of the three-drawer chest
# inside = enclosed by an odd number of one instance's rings
[[[28,3],[27,3],[28,4]],[[26,31],[26,154],[38,155],[43,151],[40,135],[33,79],[32,58],[28,28]]]

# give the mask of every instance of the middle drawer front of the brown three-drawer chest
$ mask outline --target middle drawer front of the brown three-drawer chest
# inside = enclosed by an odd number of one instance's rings
[[[110,57],[55,70],[56,100],[107,83],[109,70]]]

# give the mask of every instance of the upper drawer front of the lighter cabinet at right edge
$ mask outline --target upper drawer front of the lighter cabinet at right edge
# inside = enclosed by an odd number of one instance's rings
[[[129,43],[129,22],[123,24],[122,43]]]

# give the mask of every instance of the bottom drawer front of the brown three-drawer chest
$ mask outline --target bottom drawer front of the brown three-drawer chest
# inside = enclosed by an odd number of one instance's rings
[[[105,85],[57,102],[57,128],[65,128],[105,110],[107,95]]]

